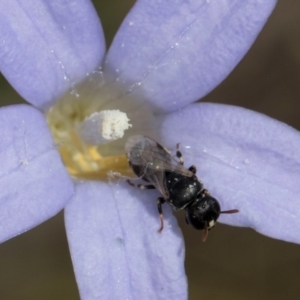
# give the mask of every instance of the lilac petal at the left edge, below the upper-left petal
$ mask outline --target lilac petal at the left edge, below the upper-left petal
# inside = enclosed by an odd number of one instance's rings
[[[0,109],[0,241],[58,213],[73,183],[43,115],[27,105]]]

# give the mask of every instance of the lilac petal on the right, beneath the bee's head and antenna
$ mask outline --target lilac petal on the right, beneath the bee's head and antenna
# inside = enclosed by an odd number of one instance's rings
[[[300,243],[300,134],[265,115],[227,105],[193,104],[166,119],[163,143],[181,143],[223,210],[221,222]]]

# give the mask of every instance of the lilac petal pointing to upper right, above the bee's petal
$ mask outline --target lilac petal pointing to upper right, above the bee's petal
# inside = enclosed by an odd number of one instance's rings
[[[275,3],[140,0],[109,49],[106,72],[131,96],[175,110],[203,97],[232,71]]]

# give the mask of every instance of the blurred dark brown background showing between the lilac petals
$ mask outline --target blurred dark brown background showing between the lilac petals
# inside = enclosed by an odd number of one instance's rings
[[[135,1],[93,2],[109,45]],[[279,0],[246,57],[203,101],[250,108],[300,130],[299,99],[300,1]],[[3,77],[0,102],[23,102]],[[202,243],[183,215],[178,219],[190,300],[299,299],[299,245],[221,224]],[[12,299],[79,299],[62,213],[0,245],[0,300]]]

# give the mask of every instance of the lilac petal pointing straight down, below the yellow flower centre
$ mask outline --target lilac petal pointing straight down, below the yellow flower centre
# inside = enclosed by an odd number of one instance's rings
[[[81,299],[186,299],[184,245],[164,207],[160,226],[156,191],[126,182],[79,184],[65,209]]]

